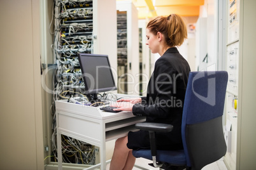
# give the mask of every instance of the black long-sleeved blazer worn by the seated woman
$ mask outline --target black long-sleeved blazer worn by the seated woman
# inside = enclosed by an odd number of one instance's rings
[[[155,62],[155,69],[148,82],[146,98],[132,107],[132,113],[146,116],[146,122],[174,126],[170,133],[158,134],[159,140],[166,141],[160,141],[161,145],[172,143],[173,146],[177,145],[174,148],[182,148],[181,118],[189,72],[187,60],[180,55],[178,49],[167,49]]]

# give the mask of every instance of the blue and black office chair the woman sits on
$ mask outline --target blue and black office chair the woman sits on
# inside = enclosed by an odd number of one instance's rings
[[[160,169],[202,169],[222,158],[226,151],[222,129],[227,72],[190,72],[183,105],[183,150],[157,150],[155,132],[173,129],[169,124],[141,122],[136,128],[149,131],[151,150],[133,150],[134,157],[153,160]]]

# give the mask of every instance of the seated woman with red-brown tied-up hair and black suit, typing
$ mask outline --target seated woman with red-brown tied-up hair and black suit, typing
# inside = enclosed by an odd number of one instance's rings
[[[146,97],[119,100],[115,110],[146,116],[146,122],[172,124],[173,131],[156,134],[157,149],[182,149],[181,117],[190,67],[175,46],[187,38],[187,27],[178,15],[158,16],[148,23],[146,37],[152,53],[160,55],[148,82]],[[132,150],[138,148],[150,148],[147,131],[129,132],[128,136],[119,138],[110,169],[132,169],[135,163]]]

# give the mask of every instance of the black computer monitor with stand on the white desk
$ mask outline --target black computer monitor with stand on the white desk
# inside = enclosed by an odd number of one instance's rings
[[[80,53],[78,55],[85,95],[90,103],[99,102],[97,93],[116,90],[108,55]]]

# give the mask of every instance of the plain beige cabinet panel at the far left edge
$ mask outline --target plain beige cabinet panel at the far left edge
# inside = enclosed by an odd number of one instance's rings
[[[0,169],[44,169],[39,0],[0,1]]]

